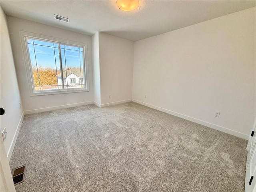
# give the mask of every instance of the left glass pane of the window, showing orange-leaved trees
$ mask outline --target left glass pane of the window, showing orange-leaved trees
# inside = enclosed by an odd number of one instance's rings
[[[53,48],[53,43],[34,40],[37,44],[28,44],[32,73],[34,78],[34,90],[61,89],[60,59],[58,48]],[[42,44],[42,45],[39,45]],[[49,46],[43,46],[48,44]]]

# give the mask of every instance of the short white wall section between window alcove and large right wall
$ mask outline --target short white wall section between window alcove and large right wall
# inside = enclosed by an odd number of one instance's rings
[[[101,104],[132,99],[133,52],[134,42],[99,32]]]

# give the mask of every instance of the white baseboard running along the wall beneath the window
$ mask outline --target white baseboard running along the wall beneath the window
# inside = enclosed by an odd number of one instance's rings
[[[76,106],[81,106],[81,105],[89,105],[89,104],[94,104],[94,101],[67,104],[67,105],[60,105],[60,106],[54,106],[54,107],[46,107],[46,108],[40,108],[40,109],[34,109],[34,110],[27,110],[27,111],[24,111],[24,115],[32,114],[32,113],[46,112],[46,111],[52,111],[52,110],[58,110],[58,109],[64,109],[64,108],[70,108],[70,107],[76,107]]]

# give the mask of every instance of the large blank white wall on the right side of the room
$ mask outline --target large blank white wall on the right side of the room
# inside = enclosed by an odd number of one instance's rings
[[[256,111],[255,14],[250,8],[135,42],[133,99],[247,139]]]

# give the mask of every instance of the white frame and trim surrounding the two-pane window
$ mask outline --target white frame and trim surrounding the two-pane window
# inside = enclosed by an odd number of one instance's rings
[[[39,96],[39,95],[51,95],[51,94],[64,94],[64,93],[75,93],[75,92],[88,92],[89,91],[89,76],[88,76],[88,49],[87,49],[87,44],[80,43],[80,42],[73,42],[69,40],[64,40],[64,39],[59,39],[59,38],[54,38],[54,37],[49,37],[49,36],[44,36],[40,34],[34,34],[30,32],[24,32],[20,31],[20,37],[22,40],[22,49],[24,53],[24,59],[25,59],[25,64],[26,64],[26,72],[28,76],[28,85],[29,85],[29,90],[30,90],[30,96]],[[28,44],[26,42],[26,38],[35,38],[35,39],[41,39],[45,41],[51,41],[55,43],[60,43],[60,44],[65,44],[65,45],[70,45],[70,46],[78,46],[84,48],[84,84],[85,88],[68,88],[68,89],[61,89],[61,90],[35,90],[34,86],[34,78],[33,78],[33,73],[32,73],[32,66],[30,62],[30,56],[29,56],[29,51],[28,51]]]

